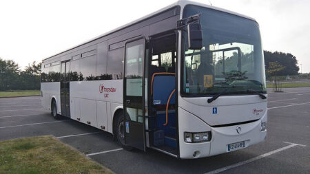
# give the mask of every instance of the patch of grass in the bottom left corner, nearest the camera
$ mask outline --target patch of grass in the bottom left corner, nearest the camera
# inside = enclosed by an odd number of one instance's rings
[[[51,135],[0,142],[0,173],[112,173]]]

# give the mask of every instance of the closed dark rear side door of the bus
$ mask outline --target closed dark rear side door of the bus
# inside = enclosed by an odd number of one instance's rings
[[[70,61],[61,63],[61,115],[70,117]]]

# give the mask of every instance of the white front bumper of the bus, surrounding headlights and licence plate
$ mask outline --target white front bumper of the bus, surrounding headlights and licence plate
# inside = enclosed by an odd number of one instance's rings
[[[233,107],[231,107],[233,108]],[[191,110],[192,111],[192,110]],[[229,120],[227,118],[227,120]],[[257,144],[265,140],[267,131],[260,131],[260,123],[267,122],[267,111],[260,120],[248,124],[234,125],[230,127],[210,127],[201,118],[194,116],[184,109],[178,109],[179,144],[180,157],[191,159],[196,157],[207,157],[227,153],[227,145],[234,142],[245,141],[245,147]],[[236,127],[241,127],[238,134]],[[211,141],[203,143],[187,143],[184,141],[184,132],[211,131]],[[200,151],[200,155],[194,157],[193,153]]]

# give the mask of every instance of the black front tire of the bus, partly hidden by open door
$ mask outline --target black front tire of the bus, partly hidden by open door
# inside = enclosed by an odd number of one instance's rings
[[[118,144],[121,144],[123,149],[127,151],[132,151],[132,146],[127,146],[125,144],[125,123],[124,123],[124,116],[123,111],[119,112],[116,116],[116,120],[114,123],[114,135],[116,135],[116,140],[118,141]]]

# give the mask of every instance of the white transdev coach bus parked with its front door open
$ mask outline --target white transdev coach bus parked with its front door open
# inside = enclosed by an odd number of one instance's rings
[[[178,1],[44,59],[41,101],[124,149],[184,159],[264,141],[265,84],[254,19]]]

